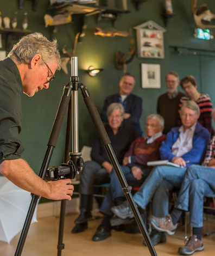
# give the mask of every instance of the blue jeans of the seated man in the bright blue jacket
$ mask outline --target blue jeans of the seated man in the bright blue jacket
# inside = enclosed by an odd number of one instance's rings
[[[142,208],[146,209],[147,204],[155,195],[154,204],[162,205],[163,209],[168,209],[169,198],[165,190],[160,189],[159,193],[155,193],[162,181],[165,186],[181,187],[183,176],[187,168],[173,166],[157,166],[153,168],[147,179],[143,182],[140,190],[134,195],[135,202]],[[161,188],[161,187],[160,187]],[[172,189],[171,188],[171,189]],[[157,201],[157,202],[156,202]],[[157,212],[153,212],[155,216],[159,216],[161,209],[156,208]]]

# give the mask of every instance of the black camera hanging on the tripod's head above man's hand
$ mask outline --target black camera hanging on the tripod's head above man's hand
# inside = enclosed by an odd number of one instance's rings
[[[81,168],[84,167],[84,160],[81,155],[81,153],[69,153],[71,160],[67,163],[62,163],[61,166],[48,167],[45,180],[74,179],[75,175],[78,175]]]

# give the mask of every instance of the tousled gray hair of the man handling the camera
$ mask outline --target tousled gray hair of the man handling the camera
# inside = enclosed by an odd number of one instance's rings
[[[29,64],[36,54],[40,54],[47,63],[54,63],[56,61],[58,63],[57,69],[60,70],[61,60],[57,46],[56,39],[50,42],[41,33],[29,34],[23,36],[12,47],[8,58],[16,58],[17,62],[21,64]],[[45,63],[41,62],[41,65],[45,65]]]

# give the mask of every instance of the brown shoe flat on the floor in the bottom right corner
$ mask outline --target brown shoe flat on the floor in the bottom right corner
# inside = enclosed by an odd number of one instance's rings
[[[189,237],[187,244],[179,248],[178,253],[181,255],[192,255],[194,252],[204,250],[203,239],[199,240],[196,235]]]

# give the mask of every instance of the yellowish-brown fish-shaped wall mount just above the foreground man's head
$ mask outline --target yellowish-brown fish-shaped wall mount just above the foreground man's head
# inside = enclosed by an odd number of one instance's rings
[[[66,24],[72,21],[72,13],[57,14],[54,17],[50,16],[49,14],[45,14],[44,20],[45,20],[46,28],[48,26]]]

